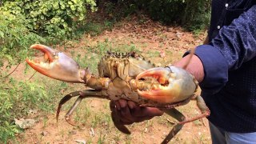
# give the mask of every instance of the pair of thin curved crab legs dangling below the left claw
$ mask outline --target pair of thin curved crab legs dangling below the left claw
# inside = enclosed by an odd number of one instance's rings
[[[58,103],[58,109],[56,113],[56,118],[58,120],[58,116],[60,113],[60,110],[62,108],[62,105],[70,100],[70,98],[78,96],[77,100],[74,102],[73,106],[71,106],[70,110],[66,113],[65,119],[66,122],[70,123],[70,125],[76,126],[76,124],[72,121],[71,115],[73,114],[74,110],[77,108],[77,106],[82,102],[83,98],[106,98],[107,94],[105,90],[82,90],[82,91],[75,91],[70,94],[67,94],[65,97],[62,98],[62,100]]]

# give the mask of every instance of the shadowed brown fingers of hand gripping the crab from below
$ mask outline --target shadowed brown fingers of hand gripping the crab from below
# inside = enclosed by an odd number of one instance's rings
[[[110,110],[118,115],[120,123],[123,125],[143,122],[163,114],[158,108],[138,106],[135,102],[125,99],[110,101]]]

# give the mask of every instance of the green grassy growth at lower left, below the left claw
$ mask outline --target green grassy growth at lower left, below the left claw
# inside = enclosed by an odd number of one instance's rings
[[[22,132],[14,125],[14,118],[24,118],[30,110],[53,112],[63,88],[67,85],[48,78],[38,78],[34,82],[3,79],[0,83],[0,142],[7,142],[15,133]],[[46,119],[44,123],[46,126]]]

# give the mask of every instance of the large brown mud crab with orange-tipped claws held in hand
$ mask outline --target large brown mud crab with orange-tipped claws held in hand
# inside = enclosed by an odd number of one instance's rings
[[[117,54],[108,52],[98,62],[98,74],[96,77],[90,73],[88,68],[80,69],[78,63],[61,52],[56,52],[48,46],[33,45],[31,48],[41,50],[44,53],[44,62],[35,62],[26,59],[26,62],[50,78],[64,82],[84,83],[94,90],[81,90],[67,94],[59,102],[57,119],[62,105],[70,98],[78,96],[74,105],[66,113],[65,119],[71,125],[74,122],[70,116],[82,101],[83,98],[106,98],[118,100],[124,98],[138,103],[140,106],[158,107],[166,114],[176,118],[179,122],[166,136],[162,143],[170,142],[170,139],[181,130],[186,122],[206,117],[210,110],[202,97],[194,94],[198,88],[198,82],[194,76],[175,66],[157,67],[146,61],[142,56],[134,52]],[[198,108],[202,111],[195,118],[186,118],[176,110],[175,106],[185,105],[191,99],[197,100]],[[130,131],[123,126],[116,114],[112,112],[111,117],[114,126],[125,134]]]

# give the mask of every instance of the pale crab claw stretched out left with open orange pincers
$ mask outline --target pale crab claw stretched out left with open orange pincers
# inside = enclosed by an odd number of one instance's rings
[[[64,82],[84,82],[82,78],[84,70],[80,70],[78,63],[66,56],[66,54],[55,52],[50,47],[40,44],[32,45],[30,48],[44,53],[44,62],[37,62],[26,58],[26,62],[34,70]]]

